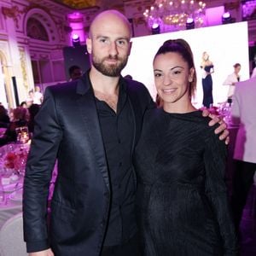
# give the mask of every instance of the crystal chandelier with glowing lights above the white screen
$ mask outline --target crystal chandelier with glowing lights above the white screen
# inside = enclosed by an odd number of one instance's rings
[[[195,27],[201,27],[205,19],[206,3],[196,0],[155,0],[143,13],[148,27],[158,24],[161,31],[177,31],[186,28],[193,19]]]

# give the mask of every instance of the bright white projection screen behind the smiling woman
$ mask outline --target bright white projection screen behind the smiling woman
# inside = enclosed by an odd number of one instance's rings
[[[202,27],[180,32],[168,32],[146,37],[132,38],[131,55],[122,75],[131,74],[132,78],[145,84],[153,98],[154,75],[152,61],[160,45],[167,39],[185,39],[194,54],[197,73],[197,90],[193,103],[196,108],[202,106],[201,55],[204,51],[210,55],[214,65],[212,73],[213,105],[227,100],[228,86],[223,85],[227,75],[234,72],[233,65],[241,64],[241,81],[249,79],[249,54],[247,22]]]

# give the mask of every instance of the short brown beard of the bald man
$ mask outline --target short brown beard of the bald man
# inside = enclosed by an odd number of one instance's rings
[[[106,60],[116,60],[119,62],[113,65],[111,64],[105,65],[104,61]],[[97,71],[99,71],[100,73],[108,77],[119,77],[121,71],[126,66],[127,61],[128,61],[128,56],[126,56],[124,59],[119,58],[118,56],[108,56],[108,57],[99,59],[96,57],[96,55],[92,54],[93,67],[95,67]]]

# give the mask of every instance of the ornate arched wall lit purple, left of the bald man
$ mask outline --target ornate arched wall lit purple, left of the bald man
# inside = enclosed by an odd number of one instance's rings
[[[35,84],[42,87],[65,80],[62,48],[69,44],[69,9],[58,4],[49,7],[25,0],[0,3],[0,86],[9,108],[15,107],[12,77],[20,102],[26,100]],[[1,100],[5,103],[4,97]]]

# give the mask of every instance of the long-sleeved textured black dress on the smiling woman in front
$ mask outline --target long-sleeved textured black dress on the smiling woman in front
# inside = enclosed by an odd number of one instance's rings
[[[208,121],[200,111],[145,115],[135,153],[143,255],[236,255],[226,147]]]

